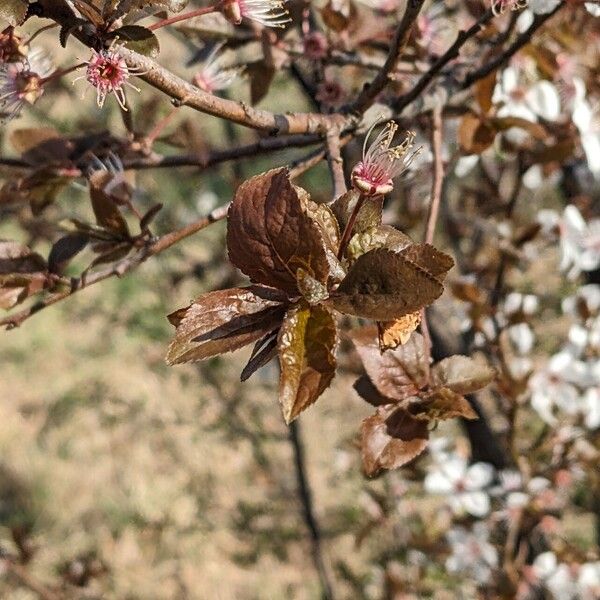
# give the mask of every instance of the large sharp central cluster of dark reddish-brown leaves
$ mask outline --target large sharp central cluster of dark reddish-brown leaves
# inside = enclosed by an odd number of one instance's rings
[[[170,315],[177,331],[167,362],[203,360],[254,343],[242,380],[278,355],[286,422],[313,404],[335,375],[336,313],[385,322],[383,331],[398,327],[396,320],[441,295],[453,264],[382,225],[379,202],[360,209],[339,256],[341,230],[357,201],[348,192],[332,205],[317,204],[291,183],[287,169],[243,183],[228,214],[227,248],[253,285],[204,294]]]

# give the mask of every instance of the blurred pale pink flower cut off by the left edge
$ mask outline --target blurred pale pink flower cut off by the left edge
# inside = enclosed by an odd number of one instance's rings
[[[54,67],[47,54],[34,48],[26,59],[0,65],[0,117],[16,117],[26,103],[44,93],[44,83]]]

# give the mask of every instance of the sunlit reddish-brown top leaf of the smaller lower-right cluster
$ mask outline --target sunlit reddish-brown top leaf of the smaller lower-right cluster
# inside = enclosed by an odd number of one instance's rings
[[[388,402],[417,396],[427,385],[429,363],[423,336],[413,333],[395,350],[381,352],[374,326],[357,329],[350,334],[369,379]]]

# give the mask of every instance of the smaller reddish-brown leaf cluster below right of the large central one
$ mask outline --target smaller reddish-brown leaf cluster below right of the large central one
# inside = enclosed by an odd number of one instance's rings
[[[492,381],[495,372],[468,356],[455,355],[430,366],[425,340],[413,333],[402,346],[380,352],[375,327],[352,333],[365,367],[354,388],[377,411],[363,421],[361,451],[367,475],[400,467],[427,447],[429,426],[477,413],[463,394]]]

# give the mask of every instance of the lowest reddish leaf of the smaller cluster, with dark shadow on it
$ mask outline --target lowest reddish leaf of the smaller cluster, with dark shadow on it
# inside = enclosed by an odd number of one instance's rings
[[[410,462],[425,448],[429,439],[427,423],[401,408],[382,406],[361,426],[361,454],[365,474],[382,469],[397,469]]]

